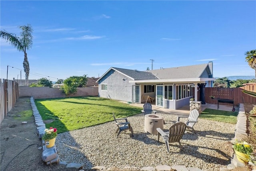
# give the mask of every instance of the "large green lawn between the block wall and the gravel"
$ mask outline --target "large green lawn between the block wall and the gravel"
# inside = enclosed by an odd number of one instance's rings
[[[36,99],[36,106],[46,128],[56,127],[58,133],[82,129],[113,121],[117,118],[141,113],[140,107],[101,97],[72,97],[56,99]]]

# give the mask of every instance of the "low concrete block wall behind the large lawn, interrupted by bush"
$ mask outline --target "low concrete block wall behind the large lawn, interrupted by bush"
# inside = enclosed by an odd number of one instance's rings
[[[78,87],[76,94],[70,97],[98,96],[98,87]],[[19,97],[34,97],[34,99],[65,97],[60,88],[19,86]]]

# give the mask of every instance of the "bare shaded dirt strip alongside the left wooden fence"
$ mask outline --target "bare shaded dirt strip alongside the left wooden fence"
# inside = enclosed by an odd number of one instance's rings
[[[32,113],[30,97],[20,97],[15,107],[1,124],[1,171],[76,171],[65,165],[46,165],[42,161],[42,141],[36,133],[34,117],[23,117],[22,112]],[[24,119],[23,119],[24,118]],[[22,125],[22,121],[27,123]],[[58,149],[57,149],[58,151]]]

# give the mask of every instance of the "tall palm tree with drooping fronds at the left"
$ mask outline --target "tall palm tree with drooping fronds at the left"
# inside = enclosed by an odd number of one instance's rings
[[[12,46],[17,48],[18,51],[24,52],[24,61],[23,68],[26,73],[26,82],[25,85],[28,85],[28,76],[29,76],[29,63],[26,50],[29,50],[32,47],[32,32],[33,29],[30,24],[27,26],[20,26],[21,32],[20,37],[17,37],[16,34],[8,33],[5,30],[0,31],[0,37],[4,38],[7,42],[9,42]]]

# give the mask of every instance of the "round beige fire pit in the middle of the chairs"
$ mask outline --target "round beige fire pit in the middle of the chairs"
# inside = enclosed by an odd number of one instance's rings
[[[164,118],[156,114],[145,115],[145,118],[144,118],[145,132],[157,135],[156,128],[164,129]]]

